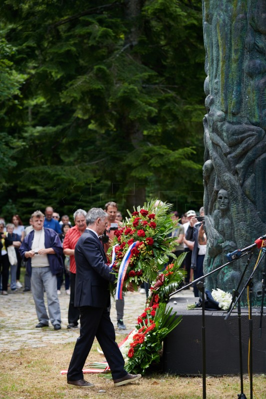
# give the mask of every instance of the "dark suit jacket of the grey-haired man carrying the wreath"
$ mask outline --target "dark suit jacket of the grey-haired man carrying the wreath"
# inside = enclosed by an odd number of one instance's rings
[[[115,280],[110,273],[103,246],[96,235],[85,230],[75,246],[76,283],[74,306],[110,305],[109,283]]]

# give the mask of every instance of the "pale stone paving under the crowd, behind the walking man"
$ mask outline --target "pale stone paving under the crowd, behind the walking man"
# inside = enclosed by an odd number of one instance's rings
[[[179,296],[193,297],[193,291],[182,291]],[[48,328],[35,328],[38,323],[34,301],[31,292],[23,292],[22,288],[16,292],[8,292],[8,295],[0,295],[0,352],[15,351],[20,348],[44,347],[47,343],[62,344],[75,342],[79,336],[79,329],[66,328],[69,295],[61,289],[59,295],[62,329],[54,331],[49,324]],[[111,320],[115,326],[116,335],[130,333],[135,327],[137,317],[145,309],[146,295],[139,292],[127,292],[125,296],[124,324],[126,330],[118,330],[116,327],[116,309],[112,302]],[[47,309],[47,305],[46,305]]]

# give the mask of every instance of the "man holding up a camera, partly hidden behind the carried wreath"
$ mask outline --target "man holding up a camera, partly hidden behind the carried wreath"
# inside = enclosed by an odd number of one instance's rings
[[[116,220],[117,204],[114,201],[109,201],[105,204],[105,212],[107,213],[107,229],[101,236],[104,252],[107,253],[108,248],[112,245],[114,238],[114,231],[119,229],[120,223]],[[123,299],[117,299],[115,301],[116,316],[117,316],[117,327],[118,330],[126,330],[126,326],[123,322],[124,317],[124,293]]]

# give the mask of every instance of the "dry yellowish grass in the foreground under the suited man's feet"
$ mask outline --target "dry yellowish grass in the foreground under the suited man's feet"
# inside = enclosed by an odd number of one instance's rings
[[[43,348],[1,353],[0,399],[201,399],[201,377],[151,374],[135,384],[115,388],[112,380],[99,375],[85,375],[95,384],[80,390],[66,384],[60,370],[68,368],[74,344],[49,344]],[[101,361],[95,342],[87,362]],[[100,390],[104,392],[99,392]],[[250,397],[249,379],[245,376],[244,392]],[[254,398],[266,399],[266,376],[254,376]],[[207,398],[237,398],[238,376],[207,377]]]

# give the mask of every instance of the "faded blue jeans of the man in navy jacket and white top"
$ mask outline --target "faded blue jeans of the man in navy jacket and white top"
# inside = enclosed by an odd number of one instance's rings
[[[57,281],[56,276],[51,273],[50,267],[32,267],[30,282],[39,322],[48,325],[50,318],[53,326],[61,324],[60,305],[56,287]],[[49,317],[44,304],[44,289],[47,296]]]

